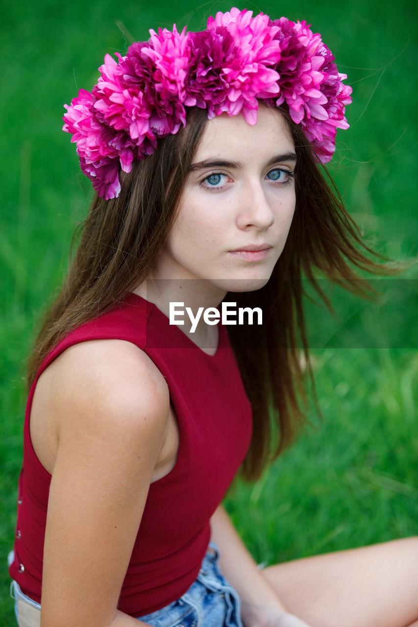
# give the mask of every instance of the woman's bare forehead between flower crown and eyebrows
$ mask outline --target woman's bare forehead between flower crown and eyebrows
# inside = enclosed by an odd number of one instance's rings
[[[257,123],[250,125],[240,113],[228,117],[227,113],[208,120],[196,150],[195,160],[209,156],[227,156],[242,161],[244,156],[267,157],[277,152],[294,150],[294,142],[286,120],[277,108],[265,105],[257,111]]]

